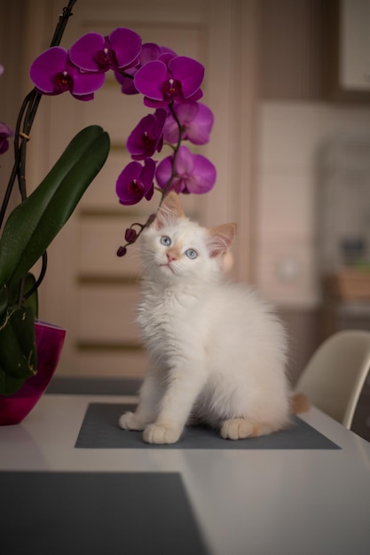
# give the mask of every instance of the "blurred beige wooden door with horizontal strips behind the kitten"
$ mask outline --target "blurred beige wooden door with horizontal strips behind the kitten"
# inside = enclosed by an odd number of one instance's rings
[[[63,3],[62,3],[63,4]],[[28,62],[47,47],[60,0],[28,1]],[[199,152],[217,168],[214,190],[185,198],[189,215],[205,225],[235,221],[240,238],[233,273],[248,278],[251,238],[251,175],[254,103],[254,1],[78,0],[61,45],[89,31],[108,35],[130,27],[144,42],[169,46],[206,66],[204,102],[215,113],[209,145]],[[115,181],[130,161],[125,142],[149,113],[141,96],[123,96],[113,76],[92,102],[70,95],[43,98],[33,131],[28,183],[38,183],[75,133],[91,123],[111,137],[105,168],[86,192],[75,215],[49,250],[49,268],[40,294],[41,316],[67,328],[59,372],[73,375],[141,376],[146,365],[134,322],[138,301],[138,252],[118,258],[125,228],[145,221],[158,197],[122,207]],[[31,158],[31,156],[30,156]]]

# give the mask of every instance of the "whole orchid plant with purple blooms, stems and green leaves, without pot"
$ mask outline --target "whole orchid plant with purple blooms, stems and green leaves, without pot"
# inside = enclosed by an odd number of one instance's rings
[[[43,95],[69,92],[75,99],[91,101],[113,72],[122,94],[143,95],[152,109],[127,139],[132,161],[117,176],[115,191],[123,206],[166,194],[209,192],[216,181],[216,168],[201,154],[183,145],[205,145],[213,126],[213,113],[200,102],[204,66],[154,43],[142,43],[138,33],[118,27],[107,36],[87,33],[69,50],[59,46],[76,0],[70,0],[51,41],[30,67],[35,88],[20,109],[14,133],[0,123],[0,154],[9,149],[14,135],[14,168],[0,211],[0,226],[18,179],[21,202],[9,215],[0,238],[0,394],[12,395],[25,379],[35,374],[34,318],[37,288],[46,271],[46,248],[69,216],[83,192],[104,165],[109,137],[98,126],[83,129],[67,146],[50,173],[27,195],[25,165],[27,142],[35,113]],[[4,67],[0,66],[0,75]],[[164,146],[170,154],[158,160]],[[154,182],[156,184],[154,184]],[[124,232],[125,243],[117,255],[126,254],[140,233],[154,220],[133,223]],[[40,276],[30,273],[42,258]],[[25,339],[26,338],[26,339]]]

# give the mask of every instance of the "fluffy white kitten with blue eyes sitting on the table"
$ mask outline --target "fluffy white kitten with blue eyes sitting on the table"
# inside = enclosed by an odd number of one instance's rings
[[[208,230],[189,221],[170,193],[142,235],[138,324],[149,368],[138,409],[120,426],[144,430],[146,442],[177,442],[193,421],[227,439],[287,425],[285,332],[253,290],[225,281],[234,233],[233,224]]]

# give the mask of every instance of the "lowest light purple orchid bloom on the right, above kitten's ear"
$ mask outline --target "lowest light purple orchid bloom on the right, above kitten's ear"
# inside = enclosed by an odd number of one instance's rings
[[[155,172],[162,190],[166,190],[172,175],[173,156],[161,160]],[[215,166],[205,156],[190,152],[186,146],[180,146],[178,149],[175,169],[176,176],[170,191],[202,194],[209,192],[216,182]]]

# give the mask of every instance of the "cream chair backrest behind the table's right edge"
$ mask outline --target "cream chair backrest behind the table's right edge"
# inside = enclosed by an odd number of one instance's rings
[[[370,332],[336,332],[313,353],[295,391],[350,429],[369,368]]]

